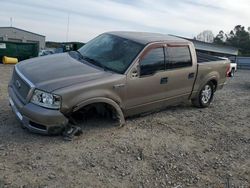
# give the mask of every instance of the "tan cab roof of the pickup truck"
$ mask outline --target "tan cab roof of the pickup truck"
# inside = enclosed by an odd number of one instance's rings
[[[160,34],[160,33],[113,31],[113,32],[107,32],[107,34],[111,34],[111,35],[122,37],[128,40],[132,40],[134,42],[137,42],[143,45],[147,45],[153,42],[173,42],[173,43],[186,43],[186,44],[190,43],[190,41],[186,39],[175,37],[175,36],[170,36],[166,34]]]

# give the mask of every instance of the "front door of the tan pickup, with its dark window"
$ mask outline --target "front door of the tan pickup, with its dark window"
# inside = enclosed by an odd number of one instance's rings
[[[146,49],[139,57],[138,65],[138,75],[135,76],[132,70],[127,77],[127,109],[164,99],[168,87],[163,44],[154,44]]]

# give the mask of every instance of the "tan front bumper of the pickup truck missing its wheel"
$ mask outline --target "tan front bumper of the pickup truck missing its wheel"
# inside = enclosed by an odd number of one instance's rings
[[[23,104],[13,88],[8,87],[9,103],[17,119],[31,132],[39,134],[59,134],[68,124],[68,119],[59,110],[50,110],[38,105]]]

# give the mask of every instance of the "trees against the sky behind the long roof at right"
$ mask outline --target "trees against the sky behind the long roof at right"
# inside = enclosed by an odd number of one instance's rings
[[[220,31],[213,41],[214,44],[232,46],[239,49],[239,55],[250,56],[250,27],[237,25],[229,33]]]

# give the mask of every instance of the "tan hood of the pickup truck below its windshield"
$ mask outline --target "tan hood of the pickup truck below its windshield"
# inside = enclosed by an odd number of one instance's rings
[[[68,53],[25,60],[18,63],[16,67],[36,88],[48,92],[78,83],[103,79],[112,74],[99,70],[87,62],[80,62]]]

